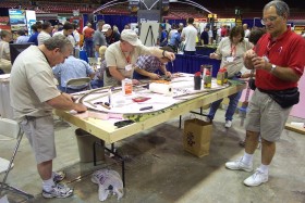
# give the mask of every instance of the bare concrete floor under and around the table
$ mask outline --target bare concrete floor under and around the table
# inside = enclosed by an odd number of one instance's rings
[[[149,130],[115,143],[118,152],[126,158],[126,187],[120,202],[129,203],[188,203],[188,202],[305,202],[305,136],[284,130],[277,144],[277,153],[270,167],[269,181],[260,187],[248,188],[243,180],[251,173],[232,172],[224,168],[227,161],[243,155],[239,141],[244,138],[244,129],[235,115],[229,130],[223,127],[224,111],[219,110],[213,122],[210,154],[198,158],[183,150],[183,130],[173,119]],[[183,116],[183,119],[194,117]],[[199,116],[197,116],[199,117]],[[300,122],[290,117],[290,120]],[[15,158],[15,166],[9,176],[9,183],[35,195],[27,202],[35,203],[96,203],[98,187],[90,181],[93,172],[111,168],[121,173],[119,162],[106,158],[97,166],[80,163],[78,148],[74,135],[75,127],[66,123],[56,123],[58,157],[53,162],[56,170],[64,169],[64,180],[75,189],[68,199],[44,199],[41,180],[28,141],[23,139]],[[14,141],[0,141],[1,157],[10,157]],[[254,158],[254,167],[260,163],[260,150]],[[82,178],[80,178],[82,176]],[[3,176],[1,176],[3,177]],[[10,202],[26,202],[22,196],[8,194]],[[115,196],[105,202],[118,202]]]

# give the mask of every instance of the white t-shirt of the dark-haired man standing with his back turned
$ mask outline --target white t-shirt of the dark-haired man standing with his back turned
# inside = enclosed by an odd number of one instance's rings
[[[185,38],[185,51],[196,51],[197,29],[193,25],[187,25],[181,33],[181,37]]]

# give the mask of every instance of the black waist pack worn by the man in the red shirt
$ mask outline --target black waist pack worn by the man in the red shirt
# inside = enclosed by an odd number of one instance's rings
[[[300,101],[300,91],[297,87],[277,91],[259,89],[259,91],[268,93],[282,109],[291,107]]]

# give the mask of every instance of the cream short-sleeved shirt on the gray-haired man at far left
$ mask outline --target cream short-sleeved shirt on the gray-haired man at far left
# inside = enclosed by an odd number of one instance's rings
[[[16,58],[10,78],[11,105],[14,117],[47,116],[52,107],[46,101],[60,94],[52,68],[37,46],[30,46]]]

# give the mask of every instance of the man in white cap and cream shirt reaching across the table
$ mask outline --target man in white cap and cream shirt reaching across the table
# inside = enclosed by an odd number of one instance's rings
[[[146,47],[137,38],[132,29],[124,29],[121,33],[120,41],[108,47],[105,59],[107,63],[106,74],[103,74],[105,86],[120,86],[121,80],[132,78],[137,58],[139,55],[155,55],[157,58],[168,58],[170,61],[175,59],[174,53],[161,50],[156,47]],[[133,79],[133,84],[138,84]]]

